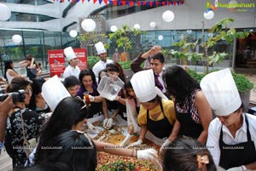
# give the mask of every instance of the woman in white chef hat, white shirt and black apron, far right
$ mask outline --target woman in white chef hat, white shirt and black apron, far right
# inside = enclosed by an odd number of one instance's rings
[[[229,171],[256,169],[256,117],[242,112],[230,69],[208,74],[201,88],[218,117],[210,123],[207,138],[215,164]]]

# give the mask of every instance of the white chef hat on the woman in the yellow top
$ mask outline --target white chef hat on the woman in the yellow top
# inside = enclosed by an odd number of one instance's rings
[[[148,102],[156,96],[153,70],[135,73],[131,77],[131,85],[139,102]]]

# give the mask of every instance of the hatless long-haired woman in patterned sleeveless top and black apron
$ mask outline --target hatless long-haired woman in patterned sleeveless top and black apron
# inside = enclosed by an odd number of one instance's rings
[[[179,134],[206,143],[212,109],[199,83],[180,66],[168,67],[163,78],[175,103],[177,121],[172,129],[172,140]]]

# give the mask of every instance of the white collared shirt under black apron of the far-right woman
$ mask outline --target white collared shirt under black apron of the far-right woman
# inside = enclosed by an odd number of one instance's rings
[[[223,141],[227,145],[236,145],[238,143],[247,142],[247,124],[245,123],[244,113],[242,114],[243,123],[241,128],[236,131],[236,137],[234,138],[232,134],[230,134],[230,130],[223,125]],[[249,123],[249,131],[251,134],[251,138],[254,142],[256,148],[256,116],[251,114],[246,114],[248,123]],[[219,149],[219,136],[220,136],[220,129],[222,123],[219,121],[218,118],[215,118],[210,123],[208,128],[208,138],[207,138],[207,148],[212,154],[212,159],[216,166],[219,164],[220,159],[220,149]],[[256,149],[255,149],[256,151]]]

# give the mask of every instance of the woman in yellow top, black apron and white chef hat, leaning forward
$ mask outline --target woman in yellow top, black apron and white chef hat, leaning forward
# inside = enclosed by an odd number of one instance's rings
[[[139,140],[129,146],[141,145],[147,131],[153,134],[153,137],[148,140],[162,145],[171,135],[176,121],[172,100],[167,100],[165,95],[155,88],[153,70],[137,72],[131,77],[131,84],[137,100],[141,103],[137,119],[141,132]]]

